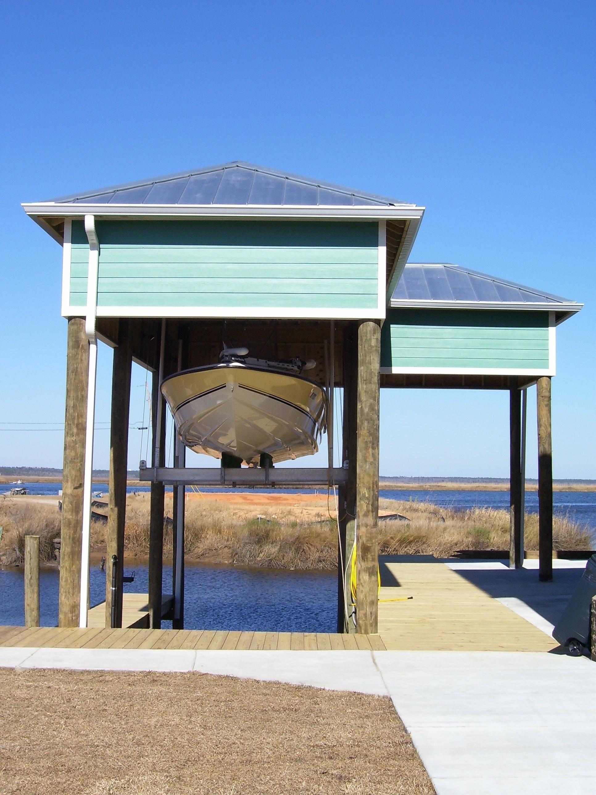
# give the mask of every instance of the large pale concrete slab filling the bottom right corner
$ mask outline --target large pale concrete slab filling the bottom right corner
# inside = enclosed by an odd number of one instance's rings
[[[589,791],[594,663],[544,653],[373,656],[438,795]]]

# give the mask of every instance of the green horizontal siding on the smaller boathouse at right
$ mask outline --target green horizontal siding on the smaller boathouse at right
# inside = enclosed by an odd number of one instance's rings
[[[548,368],[548,312],[390,309],[381,366]]]

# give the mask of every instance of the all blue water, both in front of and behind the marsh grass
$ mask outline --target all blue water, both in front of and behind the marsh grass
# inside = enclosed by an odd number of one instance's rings
[[[24,485],[31,494],[58,494],[60,489],[60,483]],[[106,495],[107,484],[94,484],[94,491],[103,491]],[[149,487],[129,487],[128,491],[149,491]],[[282,490],[267,491],[280,493]],[[474,506],[509,507],[508,491],[407,489],[383,490],[380,494],[388,499],[432,502],[437,506],[459,510]],[[587,525],[596,541],[596,492],[555,491],[553,502],[555,514]],[[536,491],[526,494],[526,510],[529,513],[537,512]],[[408,514],[407,509],[404,509],[404,514]],[[130,573],[129,568],[126,573]],[[164,593],[172,592],[171,577],[171,570],[164,566]],[[105,598],[105,582],[103,572],[99,568],[92,568],[91,604],[102,602]],[[52,626],[56,624],[58,616],[58,572],[41,572],[40,588],[41,624]],[[336,589],[335,573],[187,566],[184,623],[188,629],[334,632]],[[147,593],[148,590],[147,568],[139,566],[134,583],[126,584],[125,591]],[[24,623],[23,601],[23,572],[0,571],[0,624]]]

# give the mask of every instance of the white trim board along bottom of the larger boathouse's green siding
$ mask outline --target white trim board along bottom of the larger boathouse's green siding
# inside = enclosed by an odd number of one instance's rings
[[[68,306],[63,317],[84,316],[84,306]],[[226,320],[385,320],[385,307],[374,309],[212,307],[212,306],[122,306],[98,307],[98,317],[175,317],[178,320],[225,318]]]

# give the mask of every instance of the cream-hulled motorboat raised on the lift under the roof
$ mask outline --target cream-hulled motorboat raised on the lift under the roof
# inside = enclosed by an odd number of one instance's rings
[[[194,452],[225,466],[268,466],[312,456],[327,429],[327,395],[303,373],[309,359],[251,358],[224,347],[219,363],[164,378],[161,393],[176,431]]]

